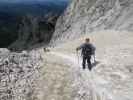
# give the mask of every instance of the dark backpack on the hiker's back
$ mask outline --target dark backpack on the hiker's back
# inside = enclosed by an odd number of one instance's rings
[[[84,46],[82,48],[82,55],[83,56],[92,55],[92,46],[91,46],[91,44],[84,44]]]

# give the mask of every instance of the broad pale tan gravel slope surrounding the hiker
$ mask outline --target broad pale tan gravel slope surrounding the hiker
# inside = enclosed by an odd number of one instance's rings
[[[82,59],[75,52],[85,37],[90,37],[96,46],[96,61],[100,62],[91,72],[82,69]],[[132,100],[132,40],[130,32],[101,31],[51,48],[51,52],[44,55],[43,72],[46,75],[43,80],[51,83],[42,90],[49,91],[44,97],[54,95],[54,100]],[[53,93],[53,90],[57,92]]]

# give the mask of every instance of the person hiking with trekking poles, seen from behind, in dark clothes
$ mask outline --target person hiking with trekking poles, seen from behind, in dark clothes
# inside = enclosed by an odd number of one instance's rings
[[[96,48],[93,46],[93,44],[90,43],[90,39],[86,38],[85,43],[83,43],[81,46],[76,48],[76,51],[82,50],[81,55],[83,57],[82,66],[83,69],[86,68],[86,62],[88,64],[88,68],[91,71],[92,70],[92,64],[91,64],[91,56],[95,56],[95,50]],[[95,58],[94,58],[95,59]]]

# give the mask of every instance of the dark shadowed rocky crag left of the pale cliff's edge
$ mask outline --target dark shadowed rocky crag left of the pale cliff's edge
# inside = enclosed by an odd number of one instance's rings
[[[19,23],[18,38],[8,48],[16,51],[47,45],[53,35],[59,15],[27,15]]]

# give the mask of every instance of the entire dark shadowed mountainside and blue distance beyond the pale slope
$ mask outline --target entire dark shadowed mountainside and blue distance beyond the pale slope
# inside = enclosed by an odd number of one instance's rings
[[[11,2],[0,1],[0,48],[7,48],[16,40],[17,44],[13,43],[10,48],[25,49],[40,42],[47,44],[57,18],[68,5],[64,0]]]

